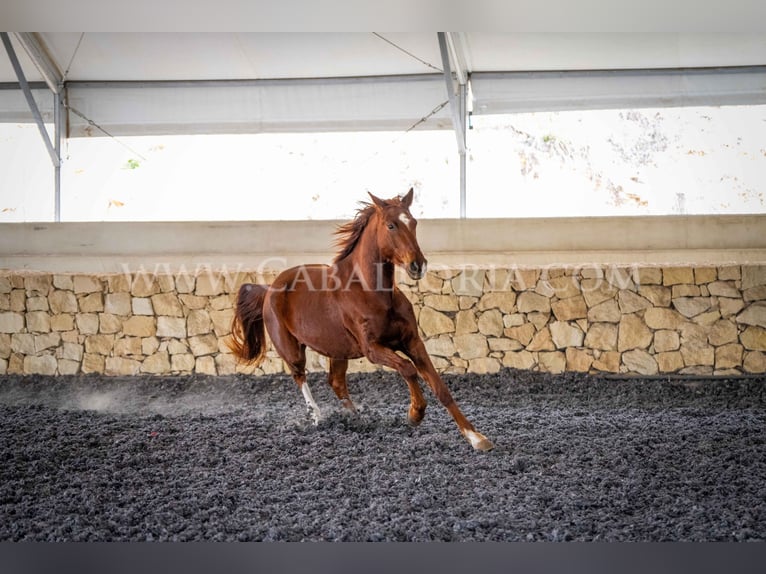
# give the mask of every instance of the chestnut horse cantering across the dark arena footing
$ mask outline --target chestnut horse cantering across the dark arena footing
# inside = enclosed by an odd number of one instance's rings
[[[492,443],[468,422],[436,372],[418,335],[412,304],[394,280],[396,265],[413,279],[426,271],[415,237],[417,221],[409,211],[412,189],[389,200],[370,197],[372,203],[363,204],[353,221],[338,228],[340,251],[332,266],[301,265],[280,273],[270,286],[240,287],[229,346],[240,360],[257,364],[266,350],[265,326],[315,422],[319,407],[306,382],[306,347],[329,358],[330,386],[352,411],[346,387],[349,359],[367,357],[404,377],[414,425],[426,409],[420,375],[473,448],[490,450]]]

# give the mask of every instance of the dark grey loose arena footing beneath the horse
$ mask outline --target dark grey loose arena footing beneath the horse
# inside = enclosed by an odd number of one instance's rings
[[[0,377],[0,540],[766,539],[766,385],[503,371]]]

